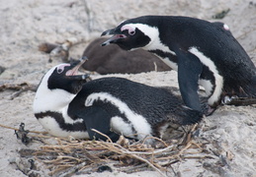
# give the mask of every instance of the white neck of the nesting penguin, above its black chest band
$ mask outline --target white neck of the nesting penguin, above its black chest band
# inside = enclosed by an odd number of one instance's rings
[[[63,109],[67,109],[75,95],[64,89],[47,89],[40,86],[34,100],[34,112],[52,111],[62,113]]]

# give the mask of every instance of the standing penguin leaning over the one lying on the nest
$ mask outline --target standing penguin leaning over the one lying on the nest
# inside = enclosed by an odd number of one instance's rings
[[[243,47],[222,23],[181,16],[142,16],[129,19],[103,35],[102,43],[125,50],[142,48],[178,72],[185,104],[202,111],[198,89],[205,88],[207,115],[225,96],[256,97],[256,68]]]

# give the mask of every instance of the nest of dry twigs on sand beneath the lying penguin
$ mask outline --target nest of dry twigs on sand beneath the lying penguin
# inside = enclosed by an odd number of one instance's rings
[[[110,139],[103,142],[32,135],[31,142],[40,141],[43,145],[29,153],[35,161],[43,162],[50,176],[90,174],[104,170],[126,173],[155,170],[162,176],[169,176],[175,173],[172,165],[177,162],[188,158],[212,158],[204,152],[204,145],[193,140],[195,129],[196,125],[183,129],[182,137],[178,140],[163,141],[148,137],[143,141],[132,142],[122,137],[118,143]],[[148,139],[153,139],[153,145],[147,143]],[[21,155],[26,156],[22,150]]]

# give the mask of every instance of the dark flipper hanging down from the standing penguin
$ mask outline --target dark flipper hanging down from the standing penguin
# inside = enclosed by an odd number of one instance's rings
[[[185,104],[191,109],[202,111],[199,100],[199,79],[203,64],[192,53],[180,51],[178,57],[178,82]]]

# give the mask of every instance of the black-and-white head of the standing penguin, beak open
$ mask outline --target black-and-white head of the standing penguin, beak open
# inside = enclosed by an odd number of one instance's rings
[[[157,22],[148,16],[130,19],[121,23],[115,29],[108,29],[103,35],[113,35],[102,43],[102,46],[110,43],[118,44],[122,49],[132,50],[145,48],[150,45],[155,37],[158,37]]]

